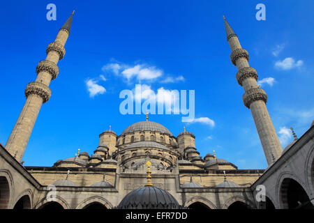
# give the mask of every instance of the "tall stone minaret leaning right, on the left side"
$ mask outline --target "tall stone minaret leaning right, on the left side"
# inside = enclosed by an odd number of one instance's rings
[[[25,148],[27,147],[40,107],[50,98],[51,91],[48,86],[51,80],[57,77],[59,73],[57,63],[63,59],[66,53],[64,45],[70,35],[73,13],[59,30],[54,42],[48,45],[45,61],[38,63],[36,81],[27,84],[25,89],[27,100],[6,142],[6,150],[19,162],[22,160]]]

